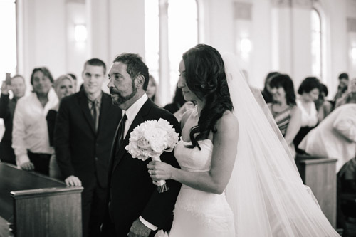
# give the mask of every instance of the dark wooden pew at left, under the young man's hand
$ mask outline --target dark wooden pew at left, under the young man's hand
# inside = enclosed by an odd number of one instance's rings
[[[82,191],[0,162],[0,236],[82,236]]]

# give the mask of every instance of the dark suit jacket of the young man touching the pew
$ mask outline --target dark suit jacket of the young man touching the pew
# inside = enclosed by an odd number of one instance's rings
[[[98,132],[95,132],[84,91],[61,100],[54,143],[64,178],[74,175],[85,187],[96,177],[101,187],[107,186],[111,144],[121,117],[122,110],[112,105],[110,95],[103,93]]]

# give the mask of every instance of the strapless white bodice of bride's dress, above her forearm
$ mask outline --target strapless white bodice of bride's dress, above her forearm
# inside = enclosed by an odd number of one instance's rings
[[[174,149],[176,157],[181,169],[189,172],[204,172],[209,171],[211,166],[211,155],[213,152],[213,143],[209,139],[198,141],[201,149],[198,147],[188,148],[187,145],[191,142],[184,142],[182,139],[178,142]]]

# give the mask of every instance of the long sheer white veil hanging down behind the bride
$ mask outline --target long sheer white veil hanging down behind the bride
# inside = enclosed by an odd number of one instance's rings
[[[261,94],[251,92],[232,54],[222,57],[239,121],[236,161],[226,187],[236,236],[339,236],[303,184]]]

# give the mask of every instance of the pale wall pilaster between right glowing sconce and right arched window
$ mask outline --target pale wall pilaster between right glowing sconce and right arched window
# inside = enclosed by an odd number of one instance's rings
[[[311,75],[311,0],[272,1],[273,69],[288,73],[295,88]]]

